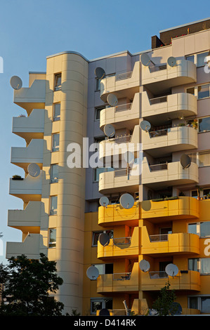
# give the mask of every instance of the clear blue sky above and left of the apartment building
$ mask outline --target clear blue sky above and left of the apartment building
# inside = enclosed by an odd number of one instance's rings
[[[25,140],[11,133],[12,118],[24,113],[13,104],[13,75],[28,86],[29,71],[45,71],[46,56],[77,51],[89,60],[100,56],[150,49],[159,30],[210,17],[209,1],[145,0],[0,0],[0,232],[6,242],[20,242],[21,232],[7,227],[8,209],[22,209],[22,200],[8,194],[9,178],[23,175],[10,164],[11,147]]]

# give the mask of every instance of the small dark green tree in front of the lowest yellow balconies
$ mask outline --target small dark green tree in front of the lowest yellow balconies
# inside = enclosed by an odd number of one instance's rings
[[[159,316],[174,315],[178,307],[173,304],[176,295],[174,290],[170,290],[171,284],[167,283],[159,292],[157,300],[153,303],[152,308],[157,311]]]

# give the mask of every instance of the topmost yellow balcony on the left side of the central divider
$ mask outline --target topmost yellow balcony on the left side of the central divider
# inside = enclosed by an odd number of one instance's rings
[[[98,225],[138,225],[140,204],[135,202],[131,209],[124,209],[120,204],[100,206],[98,208]]]

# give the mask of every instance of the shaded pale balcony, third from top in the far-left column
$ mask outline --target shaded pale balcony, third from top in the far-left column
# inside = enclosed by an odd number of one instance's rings
[[[28,147],[12,147],[11,163],[20,166],[27,173],[27,166],[37,163],[42,169],[44,140],[33,139]]]

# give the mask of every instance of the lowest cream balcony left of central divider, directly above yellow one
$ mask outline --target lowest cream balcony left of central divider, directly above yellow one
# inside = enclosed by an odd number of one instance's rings
[[[136,168],[138,165],[136,166]],[[113,192],[137,192],[140,185],[139,170],[119,169],[99,175],[98,190],[101,194]]]

